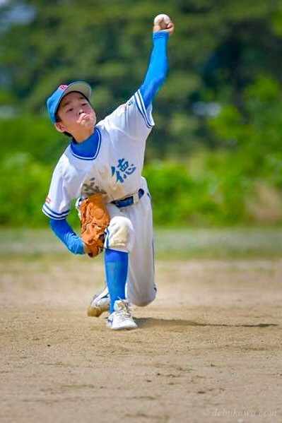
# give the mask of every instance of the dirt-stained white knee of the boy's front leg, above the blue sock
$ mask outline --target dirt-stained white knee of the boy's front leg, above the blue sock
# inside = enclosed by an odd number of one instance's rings
[[[131,220],[115,216],[106,230],[105,248],[119,248],[130,252],[134,244],[134,229]]]

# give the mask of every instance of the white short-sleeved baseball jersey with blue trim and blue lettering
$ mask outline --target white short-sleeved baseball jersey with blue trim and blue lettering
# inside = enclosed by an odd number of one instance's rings
[[[93,157],[80,156],[70,144],[54,169],[43,213],[65,219],[74,198],[100,192],[107,204],[146,186],[141,172],[146,138],[154,125],[151,109],[145,109],[138,90],[95,126],[98,144]]]

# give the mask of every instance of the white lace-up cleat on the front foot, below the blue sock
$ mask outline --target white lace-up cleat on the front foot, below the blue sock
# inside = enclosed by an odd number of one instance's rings
[[[114,302],[114,311],[107,318],[106,325],[113,330],[138,328],[131,316],[131,306],[127,299],[117,299]]]

